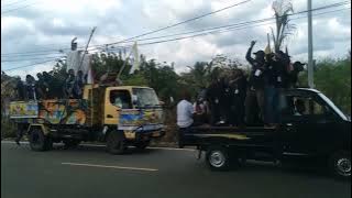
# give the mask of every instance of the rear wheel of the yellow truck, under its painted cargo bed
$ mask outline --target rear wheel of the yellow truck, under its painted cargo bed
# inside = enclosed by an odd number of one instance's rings
[[[30,146],[33,151],[47,151],[53,147],[53,141],[40,128],[34,128],[30,132]]]

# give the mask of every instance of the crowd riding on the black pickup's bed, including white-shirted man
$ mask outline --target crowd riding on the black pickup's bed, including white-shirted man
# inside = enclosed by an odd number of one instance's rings
[[[278,123],[279,92],[295,88],[298,75],[304,70],[300,62],[292,63],[283,51],[257,51],[252,57],[255,42],[251,42],[245,58],[251,70],[232,69],[216,75],[209,87],[201,89],[196,102],[185,91],[177,105],[177,124],[183,129],[208,123],[211,125],[265,125]]]

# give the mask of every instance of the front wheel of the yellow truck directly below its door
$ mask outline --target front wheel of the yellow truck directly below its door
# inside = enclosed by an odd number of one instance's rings
[[[119,131],[110,132],[107,139],[107,150],[109,153],[114,155],[124,154],[127,151],[127,145],[123,133]]]

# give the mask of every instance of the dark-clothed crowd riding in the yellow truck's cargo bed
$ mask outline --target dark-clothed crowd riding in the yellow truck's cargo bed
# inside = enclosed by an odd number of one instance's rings
[[[16,80],[16,92],[19,100],[41,100],[41,99],[81,99],[86,78],[81,70],[75,75],[74,69],[68,69],[62,75],[62,79],[54,79],[46,72],[37,73],[37,79],[32,75],[26,75],[25,81]]]

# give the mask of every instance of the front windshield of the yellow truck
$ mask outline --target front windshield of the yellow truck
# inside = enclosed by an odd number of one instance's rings
[[[133,95],[136,96],[140,108],[160,107],[158,98],[153,89],[133,88]]]

